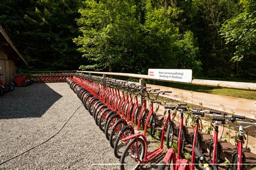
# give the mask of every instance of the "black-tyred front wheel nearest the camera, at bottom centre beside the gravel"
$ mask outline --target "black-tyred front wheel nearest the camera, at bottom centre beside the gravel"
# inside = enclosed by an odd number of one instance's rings
[[[131,140],[120,159],[121,169],[139,169],[145,154],[145,143],[141,138]]]

